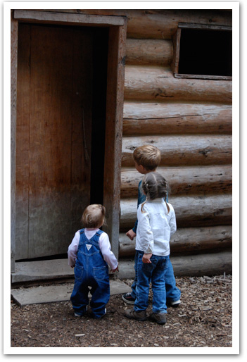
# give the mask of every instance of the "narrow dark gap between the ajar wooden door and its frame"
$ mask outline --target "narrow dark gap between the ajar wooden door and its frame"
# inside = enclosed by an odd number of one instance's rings
[[[90,204],[103,204],[108,28],[94,32]]]

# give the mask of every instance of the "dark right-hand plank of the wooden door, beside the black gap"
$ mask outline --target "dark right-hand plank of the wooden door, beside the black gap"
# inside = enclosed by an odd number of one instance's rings
[[[70,235],[90,202],[93,31],[73,30]]]

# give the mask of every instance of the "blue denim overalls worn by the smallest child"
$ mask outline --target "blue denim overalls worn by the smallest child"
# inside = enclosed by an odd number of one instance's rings
[[[92,295],[90,306],[94,318],[105,314],[105,307],[110,299],[108,264],[103,260],[99,249],[98,230],[91,239],[87,239],[84,229],[80,230],[80,242],[75,262],[75,285],[70,300],[75,313],[84,315],[89,304],[89,287]]]

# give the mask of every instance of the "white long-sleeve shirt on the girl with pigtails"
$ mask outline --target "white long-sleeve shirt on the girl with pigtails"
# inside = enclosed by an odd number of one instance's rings
[[[170,212],[163,199],[148,200],[141,212],[137,210],[136,249],[145,254],[167,256],[170,254],[170,236],[177,230],[176,216],[171,204]]]

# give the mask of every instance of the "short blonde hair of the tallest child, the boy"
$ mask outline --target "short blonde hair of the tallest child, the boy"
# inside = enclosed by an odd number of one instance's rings
[[[138,165],[144,166],[146,170],[152,171],[156,170],[160,163],[160,150],[153,146],[152,144],[145,144],[144,146],[139,146],[133,152],[134,161]]]

